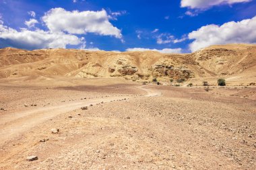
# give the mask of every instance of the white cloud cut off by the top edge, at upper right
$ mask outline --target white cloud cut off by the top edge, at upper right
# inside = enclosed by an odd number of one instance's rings
[[[233,3],[247,3],[252,0],[181,0],[181,7],[189,7],[191,9],[207,9],[212,6]]]

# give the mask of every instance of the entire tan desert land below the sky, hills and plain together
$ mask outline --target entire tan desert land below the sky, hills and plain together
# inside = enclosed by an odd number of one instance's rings
[[[3,48],[1,169],[255,169],[255,50]]]

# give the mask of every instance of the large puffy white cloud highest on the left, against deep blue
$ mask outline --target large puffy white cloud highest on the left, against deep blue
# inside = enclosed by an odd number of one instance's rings
[[[66,11],[54,8],[42,17],[51,32],[68,32],[69,34],[86,34],[87,32],[104,36],[122,38],[121,30],[108,21],[108,15],[102,11]]]

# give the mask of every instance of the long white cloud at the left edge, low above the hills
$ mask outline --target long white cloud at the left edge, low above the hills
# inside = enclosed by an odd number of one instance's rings
[[[77,36],[64,34],[63,32],[51,33],[44,30],[30,31],[22,29],[20,32],[8,28],[0,22],[0,48],[12,46],[16,48],[65,48],[67,44],[77,45],[82,40]]]

